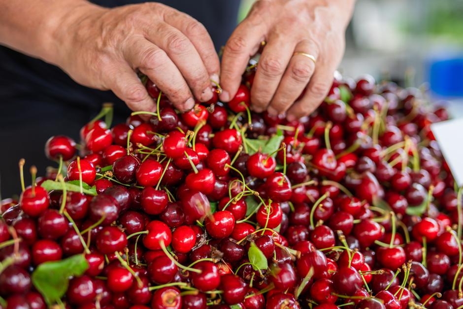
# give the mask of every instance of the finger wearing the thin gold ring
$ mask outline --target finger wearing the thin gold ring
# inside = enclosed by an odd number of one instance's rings
[[[315,70],[315,62],[303,54],[297,54],[298,52],[307,53],[317,59],[318,46],[312,40],[298,43],[275,96],[267,108],[270,114],[285,112],[304,91]]]

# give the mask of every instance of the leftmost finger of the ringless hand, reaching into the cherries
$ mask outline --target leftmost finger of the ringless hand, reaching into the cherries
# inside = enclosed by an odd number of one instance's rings
[[[108,72],[110,88],[133,111],[156,111],[156,104],[148,95],[135,71],[127,64],[116,65],[117,70]]]

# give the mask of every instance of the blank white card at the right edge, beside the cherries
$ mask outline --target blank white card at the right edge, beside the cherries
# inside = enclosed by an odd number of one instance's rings
[[[463,185],[463,118],[434,123],[431,131],[458,186]]]

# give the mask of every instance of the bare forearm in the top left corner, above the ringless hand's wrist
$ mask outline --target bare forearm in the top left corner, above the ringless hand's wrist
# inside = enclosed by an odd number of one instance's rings
[[[56,64],[62,30],[93,6],[86,0],[0,0],[0,44]]]

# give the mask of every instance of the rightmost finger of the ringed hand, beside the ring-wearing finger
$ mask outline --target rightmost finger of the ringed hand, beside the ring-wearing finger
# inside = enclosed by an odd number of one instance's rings
[[[323,102],[333,82],[334,67],[323,64],[317,66],[302,99],[288,110],[288,120],[295,120],[310,114]]]

